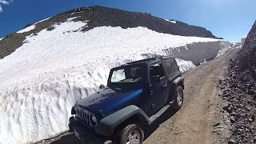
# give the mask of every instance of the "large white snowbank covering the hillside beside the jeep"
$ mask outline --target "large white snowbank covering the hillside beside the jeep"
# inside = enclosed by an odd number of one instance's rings
[[[37,142],[68,130],[71,106],[106,84],[114,66],[171,55],[186,59],[177,59],[184,71],[229,46],[218,39],[144,27],[102,26],[82,32],[86,23],[72,20],[53,27],[27,36],[14,53],[0,59],[0,143]]]

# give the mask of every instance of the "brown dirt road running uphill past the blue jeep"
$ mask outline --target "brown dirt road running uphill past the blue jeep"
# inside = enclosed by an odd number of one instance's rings
[[[222,71],[236,50],[215,58],[183,74],[185,90],[182,109],[167,110],[153,126],[146,128],[145,144],[224,143],[228,130],[214,132],[214,123],[222,123],[218,82]],[[80,143],[72,133],[42,143]]]

